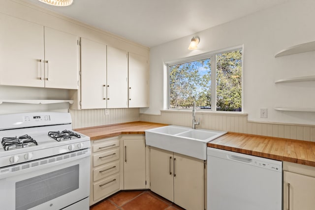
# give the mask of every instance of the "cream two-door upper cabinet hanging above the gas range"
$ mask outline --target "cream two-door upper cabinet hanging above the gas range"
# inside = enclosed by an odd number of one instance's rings
[[[0,14],[0,85],[78,89],[77,36]]]

